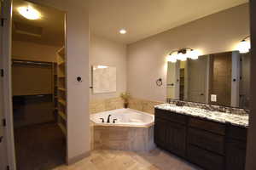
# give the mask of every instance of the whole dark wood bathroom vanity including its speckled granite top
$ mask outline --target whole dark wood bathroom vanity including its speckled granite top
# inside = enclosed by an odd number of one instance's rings
[[[245,115],[157,105],[154,142],[207,170],[242,170],[246,158],[247,123]]]

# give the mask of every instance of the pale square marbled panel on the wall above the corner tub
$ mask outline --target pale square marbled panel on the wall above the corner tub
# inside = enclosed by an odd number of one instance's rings
[[[93,94],[116,92],[116,67],[93,65],[91,72]]]

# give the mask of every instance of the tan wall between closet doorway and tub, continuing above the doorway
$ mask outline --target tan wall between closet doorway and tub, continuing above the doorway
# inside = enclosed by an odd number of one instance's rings
[[[67,161],[72,163],[90,152],[88,1],[30,1],[67,12]]]

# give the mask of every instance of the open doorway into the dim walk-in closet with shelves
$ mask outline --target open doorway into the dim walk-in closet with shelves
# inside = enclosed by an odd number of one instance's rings
[[[13,1],[12,94],[18,170],[66,163],[65,13]]]

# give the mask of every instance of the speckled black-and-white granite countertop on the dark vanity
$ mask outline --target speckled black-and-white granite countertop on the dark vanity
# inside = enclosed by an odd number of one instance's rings
[[[215,122],[231,123],[236,126],[248,127],[248,115],[236,115],[219,111],[208,111],[205,109],[189,106],[177,106],[173,104],[155,105],[154,108],[166,111],[173,111],[188,116],[201,117]]]

